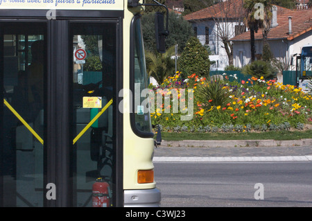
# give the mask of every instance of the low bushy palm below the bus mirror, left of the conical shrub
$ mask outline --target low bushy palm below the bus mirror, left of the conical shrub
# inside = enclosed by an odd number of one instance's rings
[[[171,46],[166,53],[146,51],[146,70],[148,76],[155,78],[161,85],[168,74],[173,73],[175,69],[175,60],[171,56],[175,53],[175,46]]]

